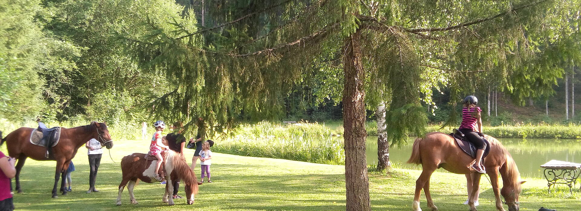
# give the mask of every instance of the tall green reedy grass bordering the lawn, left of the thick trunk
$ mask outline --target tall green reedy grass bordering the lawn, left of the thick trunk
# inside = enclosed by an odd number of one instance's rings
[[[244,124],[217,138],[212,151],[241,156],[282,158],[320,164],[345,164],[343,139],[322,124]]]

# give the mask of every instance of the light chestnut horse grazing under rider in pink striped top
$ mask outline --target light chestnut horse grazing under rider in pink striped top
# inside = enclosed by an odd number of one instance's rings
[[[496,197],[496,209],[504,211],[500,199],[500,195],[502,195],[505,199],[504,204],[508,205],[508,210],[518,211],[518,197],[521,194],[521,184],[524,182],[519,181],[520,176],[517,164],[515,164],[510,153],[508,153],[497,139],[488,135],[485,135],[485,138],[490,143],[490,153],[484,159],[484,165],[486,172],[492,180],[494,197]],[[410,164],[422,164],[422,173],[415,182],[415,195],[412,204],[414,211],[422,210],[419,208],[419,195],[421,194],[422,188],[424,188],[428,207],[431,210],[437,210],[429,192],[430,176],[437,168],[444,168],[449,172],[460,174],[475,172],[469,168],[474,163],[474,158],[464,153],[454,142],[456,141],[452,136],[441,132],[431,132],[425,138],[415,139],[410,160],[407,161]],[[502,190],[498,189],[499,172],[503,177]],[[476,191],[480,185],[480,175],[474,176],[473,178],[472,194],[468,200],[470,210],[476,210],[474,201],[476,199]]]

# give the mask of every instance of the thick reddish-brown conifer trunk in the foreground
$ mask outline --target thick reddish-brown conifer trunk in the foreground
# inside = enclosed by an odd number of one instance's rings
[[[361,61],[361,31],[357,29],[345,46],[343,72],[343,127],[345,127],[345,186],[347,211],[369,211],[369,178],[365,159],[365,72]]]

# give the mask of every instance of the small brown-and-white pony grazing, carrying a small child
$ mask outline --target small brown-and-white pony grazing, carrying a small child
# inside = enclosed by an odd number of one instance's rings
[[[173,181],[184,180],[186,198],[188,199],[188,205],[191,205],[194,200],[194,195],[198,194],[198,179],[196,179],[196,175],[189,168],[189,165],[182,160],[180,153],[167,150],[166,154],[167,158],[164,172],[170,176],[166,176],[166,192],[163,194],[162,202],[174,205],[174,199],[171,195],[174,191]],[[131,203],[136,205],[137,201],[135,201],[135,196],[133,195],[133,188],[137,184],[137,180],[140,179],[146,183],[157,182],[155,177],[153,177],[156,162],[153,161],[147,165],[148,162],[145,160],[145,154],[142,153],[133,153],[123,157],[121,160],[123,179],[121,180],[121,184],[119,184],[117,205],[121,205],[121,193],[123,193],[125,185],[127,185]]]

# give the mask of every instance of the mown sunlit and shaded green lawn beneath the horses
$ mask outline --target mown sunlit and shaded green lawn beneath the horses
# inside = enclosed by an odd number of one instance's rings
[[[219,143],[218,143],[219,144]],[[148,150],[148,142],[117,141],[111,150],[113,159]],[[6,152],[6,147],[0,147]],[[15,194],[17,209],[23,210],[345,210],[345,167],[342,165],[312,164],[308,162],[256,158],[214,153],[211,172],[214,183],[200,186],[193,205],[177,199],[175,206],[162,203],[164,185],[139,183],[135,187],[138,205],[129,203],[125,189],[123,205],[116,206],[117,186],[121,172],[119,164],[103,154],[97,176],[99,193],[86,194],[88,189],[88,161],[81,148],[73,159],[73,191],[58,199],[51,198],[54,161],[27,160],[21,174],[23,194]],[[186,156],[191,158],[192,150]],[[199,173],[199,166],[196,172]],[[396,169],[390,176],[370,175],[372,210],[411,210],[415,179],[420,171]],[[198,175],[199,176],[199,175]],[[546,181],[526,179],[521,196],[521,210],[538,210],[541,206],[557,210],[581,210],[581,193],[573,195],[566,186],[557,186],[553,194],[546,193]],[[452,173],[435,172],[431,180],[432,197],[440,210],[466,210],[465,177]],[[183,195],[183,186],[180,193]],[[422,195],[422,209],[426,208]],[[492,188],[482,179],[480,210],[495,210]]]

